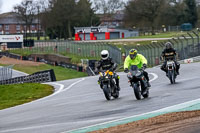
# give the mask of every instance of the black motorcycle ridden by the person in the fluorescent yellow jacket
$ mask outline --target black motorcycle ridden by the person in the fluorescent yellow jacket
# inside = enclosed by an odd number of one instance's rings
[[[144,98],[149,97],[149,87],[147,86],[147,80],[144,77],[143,71],[143,69],[139,69],[136,65],[132,65],[127,74],[137,100],[140,100],[142,96]]]

